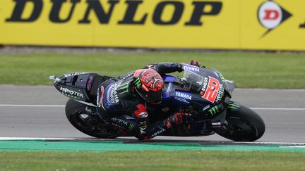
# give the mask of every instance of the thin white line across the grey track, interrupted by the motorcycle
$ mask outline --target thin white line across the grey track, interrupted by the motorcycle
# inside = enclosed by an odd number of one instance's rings
[[[64,105],[20,105],[20,104],[0,104],[0,107],[30,107],[30,108],[64,108]],[[305,108],[251,108],[253,110],[305,110]]]

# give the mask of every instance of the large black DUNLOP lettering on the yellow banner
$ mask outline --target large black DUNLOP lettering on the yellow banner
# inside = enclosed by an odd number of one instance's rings
[[[42,13],[48,13],[49,23],[78,23],[79,25],[89,25],[91,23],[91,15],[95,15],[101,25],[109,25],[116,23],[117,25],[145,25],[148,20],[152,20],[154,25],[176,25],[181,18],[184,20],[185,26],[201,26],[202,19],[205,16],[215,16],[222,11],[221,1],[155,1],[155,8],[145,11],[146,4],[149,1],[143,0],[126,0],[124,3],[119,3],[119,0],[20,0],[14,1],[15,6],[11,10],[10,17],[6,18],[7,23],[32,23],[40,19]],[[28,4],[32,4],[32,8],[25,10]],[[122,6],[124,4],[124,6]],[[189,4],[192,4],[189,6]],[[51,6],[51,8],[47,8]],[[68,8],[65,8],[68,7]],[[122,8],[120,8],[122,7]],[[173,12],[169,13],[169,18],[166,20],[162,17],[167,8],[173,8]],[[184,13],[188,7],[190,13]],[[79,11],[79,9],[82,9]],[[78,10],[76,15],[74,11]],[[23,11],[28,11],[26,17]],[[119,11],[123,11],[119,16],[116,15]],[[145,11],[139,13],[139,11]],[[91,14],[91,15],[90,15]],[[184,15],[188,15],[185,16]],[[63,17],[64,16],[64,17]],[[71,20],[77,16],[76,20]],[[116,19],[114,21],[114,18]]]

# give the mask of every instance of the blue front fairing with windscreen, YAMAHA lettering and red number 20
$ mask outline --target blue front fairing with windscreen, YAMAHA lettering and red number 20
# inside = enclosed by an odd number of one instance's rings
[[[219,103],[225,95],[224,91],[230,94],[234,88],[233,86],[229,87],[229,82],[214,68],[206,70],[188,64],[183,64],[182,66],[184,69],[183,78],[180,79],[172,75],[163,76],[165,88],[162,101],[165,103],[172,103],[175,106],[192,105],[204,107]],[[181,80],[184,82],[183,87],[181,87]],[[212,84],[213,82],[215,83]],[[230,82],[229,85],[231,84],[234,85],[234,82]],[[213,85],[216,88],[211,87]]]

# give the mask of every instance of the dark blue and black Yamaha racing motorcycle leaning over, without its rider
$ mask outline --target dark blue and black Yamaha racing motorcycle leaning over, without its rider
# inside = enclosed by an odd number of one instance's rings
[[[163,75],[162,103],[155,106],[151,122],[164,120],[173,110],[190,113],[185,122],[163,132],[163,136],[206,136],[214,133],[234,141],[256,141],[265,132],[265,123],[250,108],[231,101],[235,87],[215,68],[210,70],[182,64],[183,77]],[[124,129],[104,122],[96,112],[97,89],[104,77],[96,73],[75,72],[50,76],[54,87],[70,98],[66,117],[80,132],[97,138],[134,136]],[[158,115],[162,113],[162,115]],[[135,118],[129,118],[137,125]],[[130,129],[137,129],[130,125]]]

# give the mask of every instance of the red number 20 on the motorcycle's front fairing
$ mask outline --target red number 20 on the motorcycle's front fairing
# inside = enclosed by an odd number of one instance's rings
[[[214,77],[209,76],[208,87],[205,90],[205,94],[203,94],[202,98],[214,103],[219,89],[220,89],[220,82]]]

